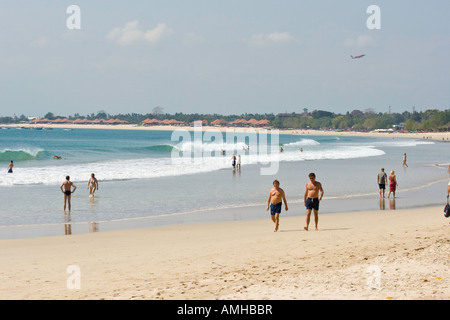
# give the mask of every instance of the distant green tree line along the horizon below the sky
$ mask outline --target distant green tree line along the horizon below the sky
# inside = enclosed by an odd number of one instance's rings
[[[59,116],[52,112],[45,114],[44,118],[53,120],[56,118],[75,119],[120,119],[125,120],[130,124],[140,124],[147,118],[151,119],[175,119],[192,123],[197,120],[206,120],[208,123],[216,119],[223,119],[225,121],[234,121],[237,119],[256,119],[269,120],[270,126],[273,128],[292,128],[292,129],[336,129],[336,130],[374,130],[374,129],[389,129],[393,126],[403,127],[405,131],[449,131],[450,130],[450,109],[440,111],[437,109],[429,109],[421,112],[403,113],[375,113],[372,111],[357,112],[346,114],[336,114],[324,110],[315,110],[311,113],[291,113],[278,114],[273,113],[244,113],[241,115],[220,115],[220,114],[201,114],[201,113],[182,113],[175,114],[164,113],[162,108],[154,108],[151,113],[138,114],[117,114],[111,115],[105,111],[99,111],[96,114],[91,113],[86,116],[81,116],[76,113],[73,116]],[[28,118],[24,115],[20,117],[0,117],[0,123],[14,124],[28,122]]]

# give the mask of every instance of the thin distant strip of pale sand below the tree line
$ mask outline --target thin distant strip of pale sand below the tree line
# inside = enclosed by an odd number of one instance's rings
[[[174,131],[174,130],[188,130],[193,131],[194,127],[190,126],[139,126],[135,124],[5,124],[2,127],[6,128],[49,128],[49,129],[115,129],[115,130],[154,130],[154,131]],[[202,131],[219,131],[226,132],[227,130],[235,132],[259,132],[265,128],[249,128],[249,127],[214,127],[203,126]],[[266,129],[267,130],[267,129]],[[269,130],[270,131],[270,130]],[[410,138],[421,140],[432,140],[440,142],[450,142],[450,132],[426,132],[426,133],[412,133],[412,132],[357,132],[357,131],[324,131],[324,130],[285,130],[280,129],[280,134],[294,134],[294,135],[333,135],[333,136],[357,136],[357,137],[378,137],[378,138]]]

